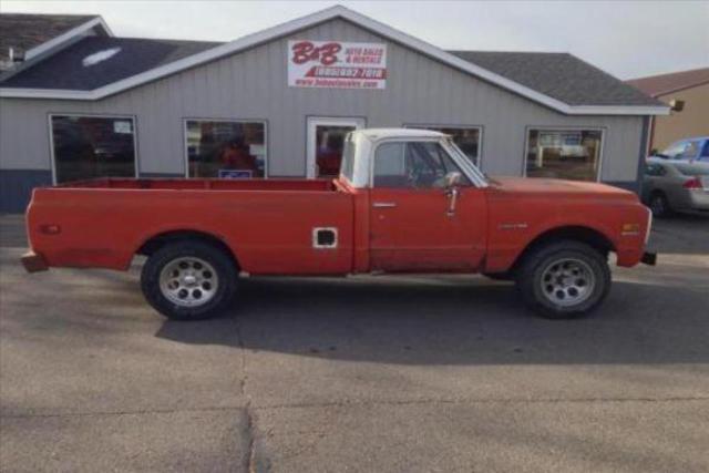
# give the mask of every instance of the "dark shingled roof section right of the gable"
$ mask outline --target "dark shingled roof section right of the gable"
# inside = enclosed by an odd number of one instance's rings
[[[664,105],[565,52],[449,52],[569,105]]]

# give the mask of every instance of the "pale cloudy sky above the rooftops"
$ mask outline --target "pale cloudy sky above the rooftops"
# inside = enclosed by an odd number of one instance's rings
[[[709,66],[709,0],[0,0],[0,12],[93,13],[119,37],[230,41],[337,3],[439,48],[571,52],[624,80]]]

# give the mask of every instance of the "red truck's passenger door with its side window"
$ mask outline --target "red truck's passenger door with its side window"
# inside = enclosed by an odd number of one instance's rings
[[[445,175],[459,172],[458,195]],[[452,199],[454,198],[454,203]],[[374,151],[370,266],[383,271],[474,271],[486,246],[486,200],[435,141],[388,141]]]

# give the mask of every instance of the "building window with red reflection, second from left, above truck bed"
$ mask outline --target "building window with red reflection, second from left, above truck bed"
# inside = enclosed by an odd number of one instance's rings
[[[187,120],[188,177],[266,176],[266,124]]]

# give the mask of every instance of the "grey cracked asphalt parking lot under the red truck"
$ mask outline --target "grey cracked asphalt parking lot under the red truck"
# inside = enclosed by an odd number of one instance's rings
[[[0,217],[2,471],[709,471],[709,218],[594,316],[480,277],[256,279],[168,322],[137,270],[25,274]]]

